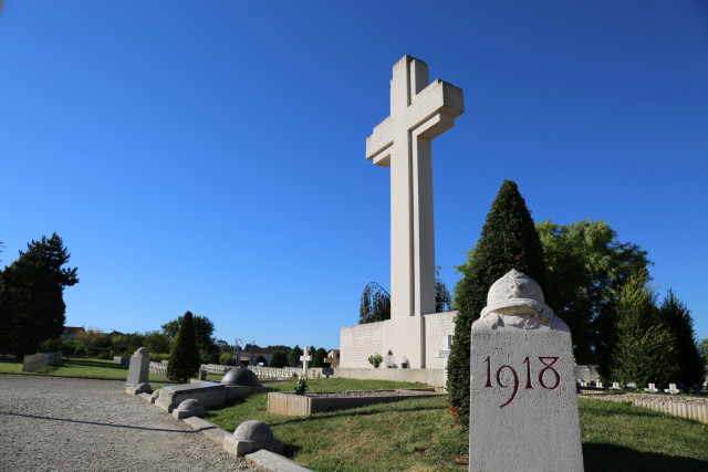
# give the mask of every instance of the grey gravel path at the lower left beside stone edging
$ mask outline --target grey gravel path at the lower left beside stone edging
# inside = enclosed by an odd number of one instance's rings
[[[124,387],[0,374],[0,471],[261,471]]]

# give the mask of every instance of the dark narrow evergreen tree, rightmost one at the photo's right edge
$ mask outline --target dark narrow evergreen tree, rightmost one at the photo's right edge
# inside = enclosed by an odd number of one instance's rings
[[[686,304],[676,297],[674,291],[669,290],[662,302],[658,318],[676,338],[674,346],[677,350],[678,370],[669,381],[688,386],[702,384],[706,364],[694,332],[694,319]]]

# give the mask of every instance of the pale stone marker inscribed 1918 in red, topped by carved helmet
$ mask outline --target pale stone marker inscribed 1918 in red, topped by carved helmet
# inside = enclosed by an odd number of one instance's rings
[[[489,289],[470,364],[470,471],[583,470],[571,333],[531,277]]]

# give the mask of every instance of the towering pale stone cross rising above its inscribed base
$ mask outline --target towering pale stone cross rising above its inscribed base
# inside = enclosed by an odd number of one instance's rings
[[[391,116],[366,138],[366,158],[391,167],[391,317],[435,313],[431,139],[465,111],[462,90],[405,55],[394,65]]]

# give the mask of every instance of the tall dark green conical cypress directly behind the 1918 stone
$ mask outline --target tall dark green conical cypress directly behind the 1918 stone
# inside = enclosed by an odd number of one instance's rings
[[[494,199],[477,245],[457,268],[462,279],[455,285],[455,337],[447,370],[451,411],[462,428],[469,426],[470,329],[487,305],[489,287],[512,269],[545,284],[543,247],[531,213],[517,185],[504,180]],[[546,296],[548,298],[548,296]],[[548,300],[546,300],[548,302]]]

